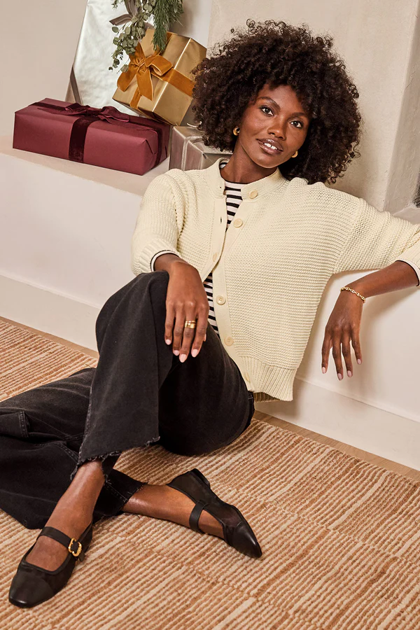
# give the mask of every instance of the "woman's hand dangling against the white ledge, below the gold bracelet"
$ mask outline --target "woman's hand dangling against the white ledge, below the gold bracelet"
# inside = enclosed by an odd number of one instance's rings
[[[322,371],[328,370],[328,358],[332,347],[332,356],[337,367],[337,377],[343,378],[342,353],[346,363],[347,375],[351,377],[350,340],[358,363],[362,363],[360,351],[360,320],[362,318],[363,300],[351,291],[342,291],[335,302],[330,318],[325,326],[322,344]]]

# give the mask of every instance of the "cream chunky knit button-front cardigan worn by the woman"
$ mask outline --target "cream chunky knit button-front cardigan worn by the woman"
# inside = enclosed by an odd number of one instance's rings
[[[420,266],[420,225],[323,183],[273,174],[242,187],[228,230],[219,162],[170,169],[141,200],[131,264],[151,272],[159,251],[213,272],[221,342],[255,401],[293,400],[293,381],[332,274]],[[205,351],[205,346],[204,346]]]

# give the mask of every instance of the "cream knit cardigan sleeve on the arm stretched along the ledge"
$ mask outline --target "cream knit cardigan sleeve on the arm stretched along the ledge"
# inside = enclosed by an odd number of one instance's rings
[[[356,221],[342,248],[334,273],[383,269],[404,258],[420,266],[420,224],[388,211],[379,211],[360,199]]]

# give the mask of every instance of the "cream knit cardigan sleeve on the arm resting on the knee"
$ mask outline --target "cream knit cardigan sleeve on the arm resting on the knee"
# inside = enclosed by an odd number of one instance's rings
[[[155,177],[141,200],[131,243],[131,268],[137,276],[153,271],[151,266],[158,252],[181,253],[177,250],[183,225],[183,207],[176,207],[174,191],[165,173]]]

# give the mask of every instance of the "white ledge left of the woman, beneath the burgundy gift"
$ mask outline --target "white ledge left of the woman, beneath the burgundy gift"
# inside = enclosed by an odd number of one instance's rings
[[[134,277],[141,197],[168,166],[169,158],[134,175],[20,151],[1,138],[0,274],[102,307]]]

